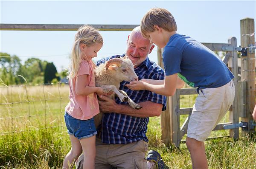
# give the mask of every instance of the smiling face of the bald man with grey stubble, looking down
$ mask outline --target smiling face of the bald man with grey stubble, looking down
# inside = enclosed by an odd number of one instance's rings
[[[148,39],[145,39],[140,31],[132,31],[127,40],[126,56],[129,57],[134,68],[136,68],[147,59],[153,48],[154,45]]]

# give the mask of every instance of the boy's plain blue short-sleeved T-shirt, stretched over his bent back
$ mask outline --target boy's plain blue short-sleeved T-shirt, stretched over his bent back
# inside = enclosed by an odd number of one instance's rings
[[[235,76],[209,48],[191,37],[174,34],[163,51],[166,76],[177,73],[191,87],[216,88]]]

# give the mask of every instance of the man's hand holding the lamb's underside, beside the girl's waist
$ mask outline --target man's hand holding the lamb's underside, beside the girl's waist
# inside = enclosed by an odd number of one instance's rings
[[[102,113],[112,113],[112,112],[116,112],[116,107],[118,106],[118,104],[116,104],[115,99],[110,99],[106,96],[99,96],[100,99],[104,100],[104,101],[100,101],[99,100],[99,109],[101,110]]]

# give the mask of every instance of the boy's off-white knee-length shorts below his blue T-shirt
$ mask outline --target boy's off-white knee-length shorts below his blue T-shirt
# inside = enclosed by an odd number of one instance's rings
[[[217,88],[200,89],[189,119],[187,137],[205,141],[235,98],[233,80]]]

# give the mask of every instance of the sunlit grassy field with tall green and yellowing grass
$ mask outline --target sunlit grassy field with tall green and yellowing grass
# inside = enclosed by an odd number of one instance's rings
[[[0,168],[61,168],[70,149],[63,110],[68,86],[22,86],[1,88],[0,98]],[[180,107],[192,107],[195,95],[181,97]],[[180,117],[184,121],[186,115]],[[228,114],[221,122],[228,120]],[[228,130],[213,136],[227,136]],[[161,143],[160,117],[150,118],[147,136],[149,149],[155,149],[171,169],[191,169],[185,144],[177,149]],[[184,136],[183,139],[185,139]],[[256,168],[256,137],[233,141],[221,138],[206,141],[210,169]]]

